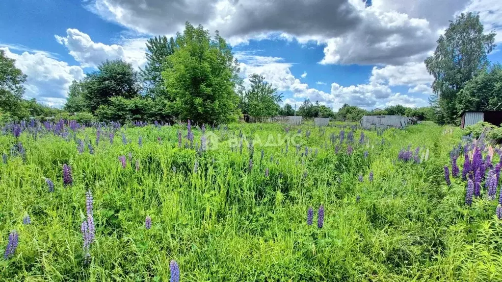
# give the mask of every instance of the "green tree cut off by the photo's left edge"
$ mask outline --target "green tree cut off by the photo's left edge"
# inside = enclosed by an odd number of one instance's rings
[[[0,50],[0,109],[16,119],[26,118],[21,102],[25,88],[26,75],[16,68],[16,60],[7,58],[5,51]]]

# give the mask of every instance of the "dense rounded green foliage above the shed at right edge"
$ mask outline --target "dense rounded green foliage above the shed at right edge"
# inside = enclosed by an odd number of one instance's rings
[[[502,66],[481,71],[458,92],[457,112],[502,109]]]

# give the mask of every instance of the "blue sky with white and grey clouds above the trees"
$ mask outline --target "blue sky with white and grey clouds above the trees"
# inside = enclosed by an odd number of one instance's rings
[[[28,75],[27,98],[60,107],[74,79],[106,59],[142,67],[148,38],[190,21],[219,30],[240,75],[264,75],[284,102],[413,107],[431,93],[423,60],[467,11],[502,44],[499,0],[17,0],[0,4],[0,48]]]

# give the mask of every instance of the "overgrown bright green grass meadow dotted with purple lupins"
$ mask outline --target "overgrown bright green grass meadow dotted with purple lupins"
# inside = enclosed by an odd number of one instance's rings
[[[498,196],[467,206],[467,182],[452,177],[451,186],[445,183],[443,167],[451,169],[460,129],[424,123],[383,136],[363,131],[360,144],[360,129],[348,141],[349,126],[343,143],[340,126],[302,125],[288,135],[285,127],[208,127],[210,144],[200,152],[185,148],[186,124],[114,129],[112,144],[110,127],[100,129],[98,144],[95,127],[76,130],[75,138],[66,129],[67,140],[45,129],[35,139],[27,128],[19,137],[25,160],[6,130],[0,135],[0,153],[7,156],[0,163],[0,251],[12,230],[19,245],[0,258],[0,279],[169,281],[175,260],[180,281],[502,280]],[[193,132],[195,146],[202,133]],[[81,154],[78,139],[86,140]],[[420,147],[420,163],[398,160],[409,145],[413,154]],[[498,160],[495,154],[493,163]],[[463,153],[460,169],[462,163]],[[72,185],[63,185],[63,164],[72,168]],[[85,263],[81,224],[88,190],[95,238]],[[23,224],[26,215],[30,224]]]

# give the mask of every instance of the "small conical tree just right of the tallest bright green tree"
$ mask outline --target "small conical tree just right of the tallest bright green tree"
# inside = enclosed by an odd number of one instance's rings
[[[277,116],[280,109],[278,103],[282,101],[282,95],[277,93],[277,88],[258,74],[249,75],[249,82],[251,86],[245,91],[242,112],[258,121]]]

